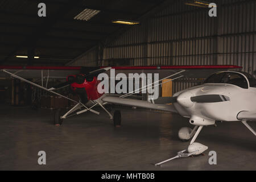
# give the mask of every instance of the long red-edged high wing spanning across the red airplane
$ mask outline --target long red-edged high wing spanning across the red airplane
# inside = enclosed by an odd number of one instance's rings
[[[15,73],[15,75],[23,78],[64,78],[68,75],[76,75],[79,73],[88,73],[93,74],[93,71],[97,69],[102,69],[107,67],[42,67],[42,66],[8,66],[0,65],[0,70],[5,69]],[[116,70],[116,73],[161,73],[160,76],[166,77],[170,75],[170,71],[177,71],[185,69],[186,72],[184,76],[192,78],[195,76],[195,71],[200,69],[200,72],[197,72],[197,77],[204,77],[210,75],[217,71],[223,71],[226,69],[239,69],[236,65],[187,65],[187,66],[138,66],[138,67],[112,67]],[[202,76],[199,76],[201,74]],[[6,77],[7,75],[3,72],[0,72],[0,77]]]

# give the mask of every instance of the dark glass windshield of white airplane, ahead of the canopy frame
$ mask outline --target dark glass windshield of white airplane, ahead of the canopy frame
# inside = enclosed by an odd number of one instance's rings
[[[249,88],[247,80],[239,73],[233,72],[220,72],[214,73],[212,76],[205,80],[204,84],[232,84],[239,86],[243,89]]]

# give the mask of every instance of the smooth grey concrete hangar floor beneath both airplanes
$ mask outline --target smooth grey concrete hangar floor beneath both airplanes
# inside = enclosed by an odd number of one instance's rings
[[[98,108],[99,110],[99,108]],[[0,170],[256,170],[256,137],[242,123],[204,127],[196,142],[209,147],[205,156],[176,159],[161,168],[152,163],[184,150],[177,137],[187,119],[176,114],[122,110],[122,127],[108,115],[85,113],[60,127],[49,110],[0,106]],[[256,128],[256,122],[250,123]],[[39,166],[38,151],[47,165]],[[208,152],[217,152],[210,166]]]

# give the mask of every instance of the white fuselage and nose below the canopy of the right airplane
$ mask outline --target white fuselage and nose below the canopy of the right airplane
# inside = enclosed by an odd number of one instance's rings
[[[208,94],[228,96],[230,101],[214,103],[197,103],[189,101],[190,97]],[[184,102],[182,98],[185,97]],[[178,97],[174,104],[176,110],[183,117],[200,117],[210,121],[238,121],[237,115],[241,111],[255,110],[256,88],[240,88],[232,84],[203,84],[194,86],[174,94]],[[214,122],[213,122],[214,123]]]

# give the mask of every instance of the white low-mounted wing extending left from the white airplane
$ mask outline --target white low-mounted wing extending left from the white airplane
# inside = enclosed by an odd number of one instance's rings
[[[106,97],[102,98],[102,101],[108,102],[110,104],[135,106],[135,107],[142,107],[142,108],[146,108],[146,109],[156,109],[156,110],[170,111],[172,113],[177,113],[177,110],[175,109],[175,107],[173,105],[152,104],[148,101],[142,101],[142,100],[106,96]]]

